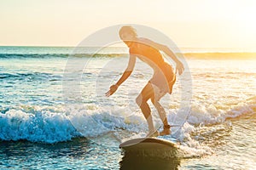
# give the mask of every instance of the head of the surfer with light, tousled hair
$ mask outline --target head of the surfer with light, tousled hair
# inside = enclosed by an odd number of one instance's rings
[[[137,32],[136,30],[131,27],[131,26],[123,26],[120,30],[119,30],[119,37],[121,38],[121,40],[123,40],[124,42],[126,41],[132,41],[135,40],[137,38]]]

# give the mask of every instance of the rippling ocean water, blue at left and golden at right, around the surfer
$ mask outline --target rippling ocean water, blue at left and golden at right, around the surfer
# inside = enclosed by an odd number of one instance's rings
[[[186,59],[191,77],[184,81],[192,82],[193,89],[188,92],[191,112],[180,105],[183,77],[178,77],[173,94],[161,100],[172,124],[189,114],[182,128],[172,128],[183,155],[143,158],[125,154],[118,146],[147,133],[134,100],[152,71],[138,61],[131,77],[107,98],[109,86],[125,70],[126,49],[73,51],[0,47],[1,169],[256,167],[255,59],[221,59],[221,54],[210,53],[207,59]]]

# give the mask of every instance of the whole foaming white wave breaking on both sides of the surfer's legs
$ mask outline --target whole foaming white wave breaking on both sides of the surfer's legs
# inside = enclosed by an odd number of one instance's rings
[[[235,118],[248,113],[255,113],[256,102],[251,99],[230,108],[230,111],[219,111],[213,106],[202,108],[194,105],[191,113],[178,112],[168,114],[170,122],[177,124],[183,122],[188,116],[182,128],[177,128],[183,133],[178,139],[184,141],[190,138],[188,135],[194,126],[214,125],[225,122],[229,118]],[[154,118],[155,119],[155,118]],[[159,122],[156,122],[160,124]],[[111,133],[120,141],[132,135],[143,136],[147,133],[147,124],[142,114],[128,113],[124,108],[111,110],[109,108],[97,108],[96,105],[63,107],[63,106],[20,106],[20,108],[0,108],[0,139],[20,140],[26,139],[32,142],[55,143],[71,140],[75,137],[96,139]]]

